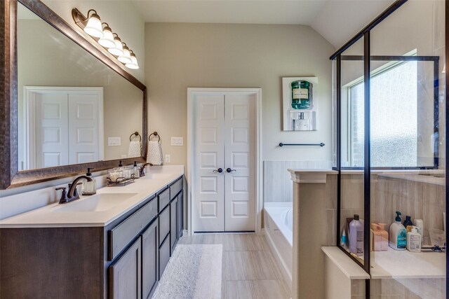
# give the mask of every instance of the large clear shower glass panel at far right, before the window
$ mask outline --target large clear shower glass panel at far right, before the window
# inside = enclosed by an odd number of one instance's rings
[[[444,1],[408,1],[370,32],[371,298],[445,298],[444,27]]]

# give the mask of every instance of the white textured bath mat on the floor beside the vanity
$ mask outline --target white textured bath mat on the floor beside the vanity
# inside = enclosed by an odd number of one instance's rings
[[[152,298],[221,298],[222,254],[222,244],[177,245]]]

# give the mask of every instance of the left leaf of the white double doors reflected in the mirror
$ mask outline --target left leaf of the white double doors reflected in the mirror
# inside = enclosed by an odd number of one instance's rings
[[[35,97],[36,157],[32,168],[69,164],[67,93],[39,93]]]

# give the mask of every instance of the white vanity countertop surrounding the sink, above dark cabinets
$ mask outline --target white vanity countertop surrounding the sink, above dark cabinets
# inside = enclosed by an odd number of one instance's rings
[[[183,172],[173,172],[161,179],[136,179],[134,183],[126,186],[103,187],[97,190],[97,194],[111,193],[135,193],[132,197],[123,200],[122,203],[105,211],[58,211],[61,207],[68,207],[89,197],[81,196],[79,200],[74,200],[67,204],[49,204],[39,209],[34,209],[23,214],[18,214],[0,221],[0,228],[61,228],[61,227],[86,227],[105,226],[116,218],[119,218],[130,211],[148,197],[166,188],[175,179],[179,178]]]

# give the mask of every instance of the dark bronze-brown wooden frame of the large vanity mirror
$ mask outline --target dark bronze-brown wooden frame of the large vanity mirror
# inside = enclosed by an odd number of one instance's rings
[[[133,164],[134,161],[145,162],[143,157],[126,158],[82,164],[48,167],[42,169],[29,169],[18,171],[18,57],[17,57],[17,9],[18,2],[36,13],[42,20],[48,22],[59,32],[81,46],[88,54],[93,55],[128,80],[143,92],[142,104],[142,146],[147,145],[147,88],[137,78],[124,70],[118,62],[98,48],[93,46],[84,36],[76,32],[65,20],[53,12],[40,0],[2,0],[0,1],[0,190],[18,186],[31,185],[43,181],[51,181],[64,177],[75,176],[86,172],[87,167],[95,171],[111,169],[123,160],[124,165]]]

